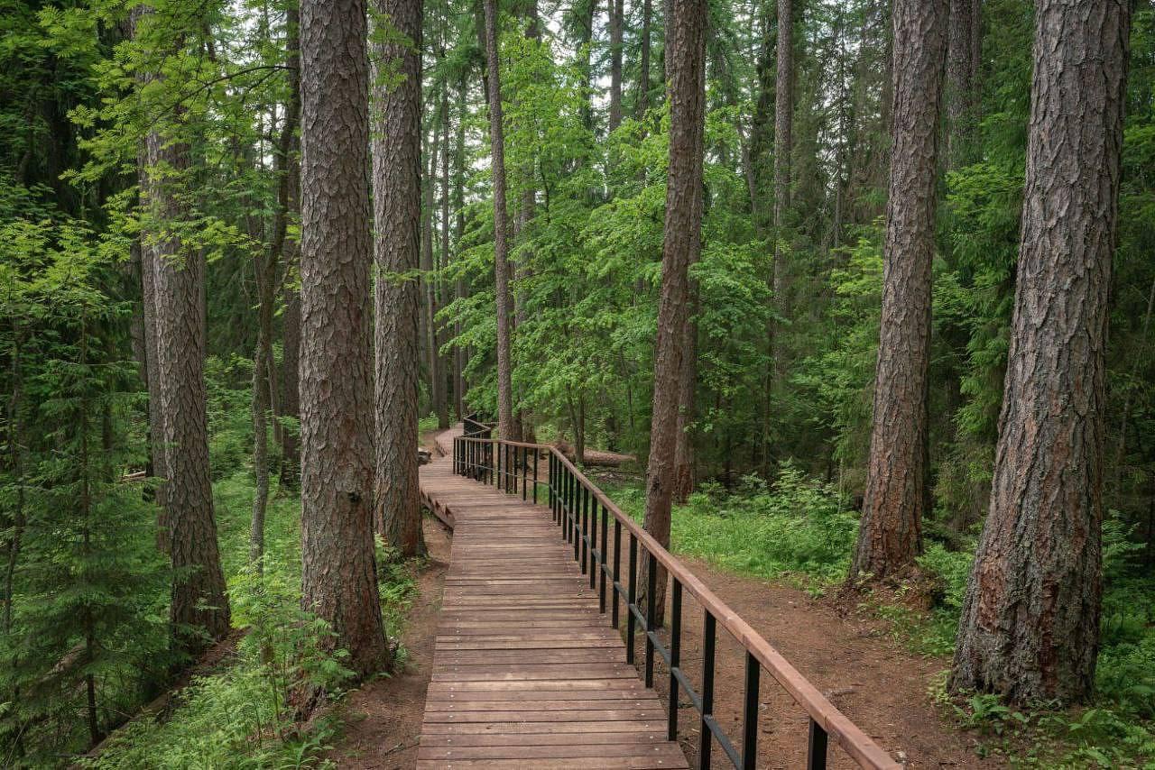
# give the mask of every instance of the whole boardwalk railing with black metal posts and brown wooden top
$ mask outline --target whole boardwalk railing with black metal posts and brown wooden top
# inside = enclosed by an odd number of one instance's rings
[[[549,453],[547,481],[538,479],[537,459],[541,453]],[[530,459],[531,458],[531,459]],[[573,543],[574,559],[581,563],[583,575],[589,575],[589,588],[594,589],[599,576],[599,610],[606,610],[606,581],[612,586],[611,625],[618,628],[618,599],[626,606],[626,661],[634,663],[634,626],[640,626],[646,635],[646,686],[654,686],[654,653],[665,660],[670,670],[670,713],[668,737],[677,740],[678,689],[683,688],[701,718],[699,768],[710,765],[710,741],[716,740],[736,768],[753,769],[758,756],[758,705],[759,676],[761,668],[790,694],[793,701],[810,716],[810,745],[807,768],[826,768],[827,739],[835,742],[862,768],[871,770],[899,770],[902,765],[882,750],[870,737],[839,711],[797,668],[758,631],[710,591],[698,576],[666,551],[657,540],[625,515],[584,473],[582,473],[556,447],[456,436],[453,453],[454,472],[486,484],[493,484],[506,493],[521,493],[522,500],[530,498],[536,503],[538,486],[545,485],[547,501],[553,511],[554,523],[562,526],[566,543]],[[601,508],[601,516],[598,516]],[[606,563],[609,519],[613,518],[613,561]],[[601,526],[598,526],[601,518]],[[628,578],[621,585],[621,531],[628,538]],[[598,543],[601,534],[601,543]],[[648,585],[644,614],[638,606],[639,546],[647,558]],[[670,646],[662,644],[656,629],[649,628],[649,618],[655,616],[657,571],[655,561],[665,568],[672,580]],[[596,570],[596,573],[595,573]],[[702,691],[694,690],[680,667],[681,645],[681,598],[688,591],[703,610],[702,643]],[[743,737],[739,752],[714,718],[714,664],[717,626],[721,625],[746,651],[745,697],[743,707]]]

